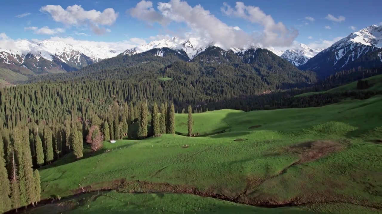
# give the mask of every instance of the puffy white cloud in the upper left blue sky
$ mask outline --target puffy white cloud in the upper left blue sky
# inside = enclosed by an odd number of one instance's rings
[[[81,5],[68,6],[66,9],[60,5],[45,5],[40,8],[41,12],[49,13],[53,20],[61,22],[65,26],[89,26],[95,34],[104,34],[107,29],[99,27],[110,26],[115,23],[118,12],[113,8],[104,11],[84,10]]]

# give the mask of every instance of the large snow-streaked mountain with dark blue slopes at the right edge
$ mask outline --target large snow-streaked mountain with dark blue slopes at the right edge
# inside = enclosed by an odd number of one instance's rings
[[[372,25],[351,33],[299,66],[325,77],[334,72],[382,65],[382,26]]]

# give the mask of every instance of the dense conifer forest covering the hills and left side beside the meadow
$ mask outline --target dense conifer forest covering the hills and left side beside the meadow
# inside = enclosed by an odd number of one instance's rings
[[[382,94],[295,97],[381,74],[380,68],[346,70],[319,80],[265,50],[256,51],[252,63],[254,51],[239,59],[211,48],[190,62],[170,49],[164,57],[152,57],[154,51],[147,51],[147,58],[120,55],[79,72],[39,76],[29,84],[0,89],[0,176],[9,181],[0,184],[0,212],[40,200],[39,167],[71,152],[82,158],[87,144],[97,151],[104,140],[175,134],[175,113],[189,114],[185,135],[192,136],[192,113],[317,107]]]

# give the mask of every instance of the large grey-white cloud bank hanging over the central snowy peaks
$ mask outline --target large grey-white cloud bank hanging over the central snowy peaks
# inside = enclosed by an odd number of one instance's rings
[[[201,5],[192,7],[181,0],[159,2],[157,10],[153,8],[151,1],[142,0],[126,13],[149,25],[155,22],[162,26],[167,26],[171,22],[185,23],[191,30],[184,35],[185,37],[202,37],[205,38],[204,42],[213,41],[222,45],[223,48],[240,47],[248,43],[261,43],[263,46],[289,46],[298,35],[298,30],[286,29],[281,22],[275,23],[270,15],[265,15],[253,6],[245,6],[241,2],[236,3],[236,10],[227,4],[223,6],[221,9],[226,15],[239,16],[260,24],[264,27],[264,31],[259,35],[247,34],[238,27],[228,26],[220,21],[210,11],[204,10]],[[249,15],[241,13],[241,10],[246,10]]]

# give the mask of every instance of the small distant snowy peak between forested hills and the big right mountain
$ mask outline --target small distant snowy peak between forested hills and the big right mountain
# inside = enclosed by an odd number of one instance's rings
[[[283,54],[281,58],[286,59],[295,66],[305,64],[310,58],[316,56],[318,53],[323,51],[324,48],[312,49],[308,46],[300,43],[295,49],[288,49]]]

